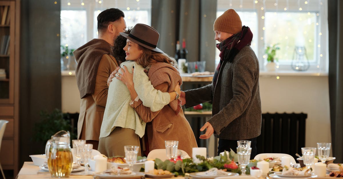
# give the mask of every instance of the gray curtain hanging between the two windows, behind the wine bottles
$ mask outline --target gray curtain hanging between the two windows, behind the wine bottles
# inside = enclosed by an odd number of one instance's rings
[[[214,71],[217,1],[152,0],[151,4],[151,25],[160,34],[158,48],[174,57],[176,41],[182,44],[185,39],[187,61],[206,61],[205,70]]]

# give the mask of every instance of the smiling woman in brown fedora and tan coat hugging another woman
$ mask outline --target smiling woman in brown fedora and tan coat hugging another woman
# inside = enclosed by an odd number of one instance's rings
[[[142,65],[156,90],[174,92],[175,84],[182,84],[175,59],[156,47],[159,34],[154,28],[145,24],[136,24],[129,34],[120,33],[120,35],[127,38],[127,44],[123,48],[126,53],[125,59]],[[126,66],[122,71],[122,74],[116,74],[116,78],[126,84],[132,99],[139,98],[133,100],[130,106],[135,109],[144,122],[147,122],[145,134],[149,141],[146,142],[146,144],[149,143],[148,151],[165,148],[164,141],[166,140],[176,140],[179,141],[178,149],[186,151],[191,156],[192,148],[198,147],[198,145],[181,109],[179,93],[175,92],[176,100],[154,112],[140,100],[141,96],[145,94],[142,93],[144,87],[134,80],[136,68],[132,69],[132,74]]]

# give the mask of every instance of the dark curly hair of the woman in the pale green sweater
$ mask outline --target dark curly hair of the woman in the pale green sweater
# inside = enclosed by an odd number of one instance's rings
[[[130,34],[133,27],[128,27],[128,29],[124,32],[126,34]],[[114,46],[112,46],[112,56],[116,58],[118,63],[125,61],[125,50],[123,49],[126,46],[127,38],[124,36],[119,35],[116,40],[114,40]]]

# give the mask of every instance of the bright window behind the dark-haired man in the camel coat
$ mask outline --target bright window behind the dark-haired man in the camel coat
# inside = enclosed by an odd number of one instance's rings
[[[96,17],[109,8],[124,12],[127,27],[137,23],[151,25],[151,0],[61,0],[61,46],[77,49],[97,38]]]

